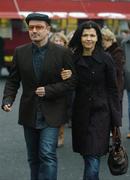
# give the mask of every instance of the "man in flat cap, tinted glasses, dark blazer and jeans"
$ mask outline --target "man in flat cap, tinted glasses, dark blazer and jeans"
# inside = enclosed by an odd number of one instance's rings
[[[31,13],[25,20],[32,43],[15,50],[2,108],[11,111],[21,82],[19,124],[24,127],[31,180],[56,180],[58,131],[66,122],[66,95],[75,87],[75,70],[70,51],[49,42],[49,17]],[[73,71],[65,81],[63,68]]]

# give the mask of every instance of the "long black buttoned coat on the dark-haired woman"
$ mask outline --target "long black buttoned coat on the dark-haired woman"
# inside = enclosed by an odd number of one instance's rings
[[[104,155],[110,129],[121,126],[115,67],[104,51],[89,57],[91,67],[85,60],[75,57],[79,81],[72,115],[73,149],[81,154]]]

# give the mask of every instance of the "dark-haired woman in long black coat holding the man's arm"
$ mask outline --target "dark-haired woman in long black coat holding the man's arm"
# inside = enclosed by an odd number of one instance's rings
[[[121,126],[116,71],[111,56],[102,48],[102,35],[95,22],[81,24],[69,47],[78,75],[72,115],[73,150],[84,159],[83,180],[99,180],[100,158],[108,152],[110,131]],[[70,77],[68,71],[61,76]]]

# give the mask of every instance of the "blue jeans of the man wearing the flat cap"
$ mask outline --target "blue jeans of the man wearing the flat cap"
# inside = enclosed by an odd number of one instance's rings
[[[59,128],[24,127],[31,180],[57,180],[57,139]]]

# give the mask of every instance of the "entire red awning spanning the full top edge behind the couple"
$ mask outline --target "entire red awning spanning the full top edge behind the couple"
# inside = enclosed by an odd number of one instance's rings
[[[99,18],[98,13],[120,13],[130,19],[130,2],[94,0],[3,0],[0,18],[20,18],[20,11],[33,12],[83,12],[88,18]],[[102,15],[102,14],[100,14]]]

